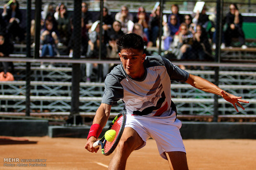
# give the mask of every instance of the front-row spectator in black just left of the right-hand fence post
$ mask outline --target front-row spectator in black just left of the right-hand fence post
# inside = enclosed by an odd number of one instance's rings
[[[194,33],[192,53],[197,56],[196,60],[213,60],[211,54],[211,44],[209,43],[205,29],[201,25],[197,25],[196,32]]]

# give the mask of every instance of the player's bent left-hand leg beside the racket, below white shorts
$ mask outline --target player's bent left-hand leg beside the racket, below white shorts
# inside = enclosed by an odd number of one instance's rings
[[[130,153],[143,143],[144,141],[134,129],[126,127],[109,163],[109,170],[124,170]]]

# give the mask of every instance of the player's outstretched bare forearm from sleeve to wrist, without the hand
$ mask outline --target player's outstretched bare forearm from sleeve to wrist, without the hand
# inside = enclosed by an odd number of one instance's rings
[[[203,90],[204,92],[209,92],[221,96],[222,89],[220,89],[220,87],[199,76],[194,76],[190,74],[190,77],[188,78],[186,83],[189,83],[193,87],[199,90]]]

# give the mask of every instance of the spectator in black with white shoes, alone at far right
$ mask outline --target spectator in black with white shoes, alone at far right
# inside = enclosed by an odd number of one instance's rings
[[[243,17],[239,13],[236,4],[230,4],[229,9],[230,11],[225,17],[225,24],[227,25],[227,30],[224,33],[225,45],[230,46],[232,38],[238,38],[242,48],[247,48],[244,45],[244,32],[242,30]]]

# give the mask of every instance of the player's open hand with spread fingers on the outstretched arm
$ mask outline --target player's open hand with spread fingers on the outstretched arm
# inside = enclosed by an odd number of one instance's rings
[[[223,97],[223,99],[225,99],[226,101],[233,104],[233,106],[234,106],[235,110],[237,110],[237,112],[239,112],[237,109],[237,106],[239,106],[240,108],[242,108],[244,110],[244,107],[239,102],[249,103],[249,101],[243,100],[242,96],[235,96],[233,94],[229,94],[228,92],[224,92],[223,90],[220,93],[221,93],[221,96]],[[235,104],[237,104],[237,106]]]

